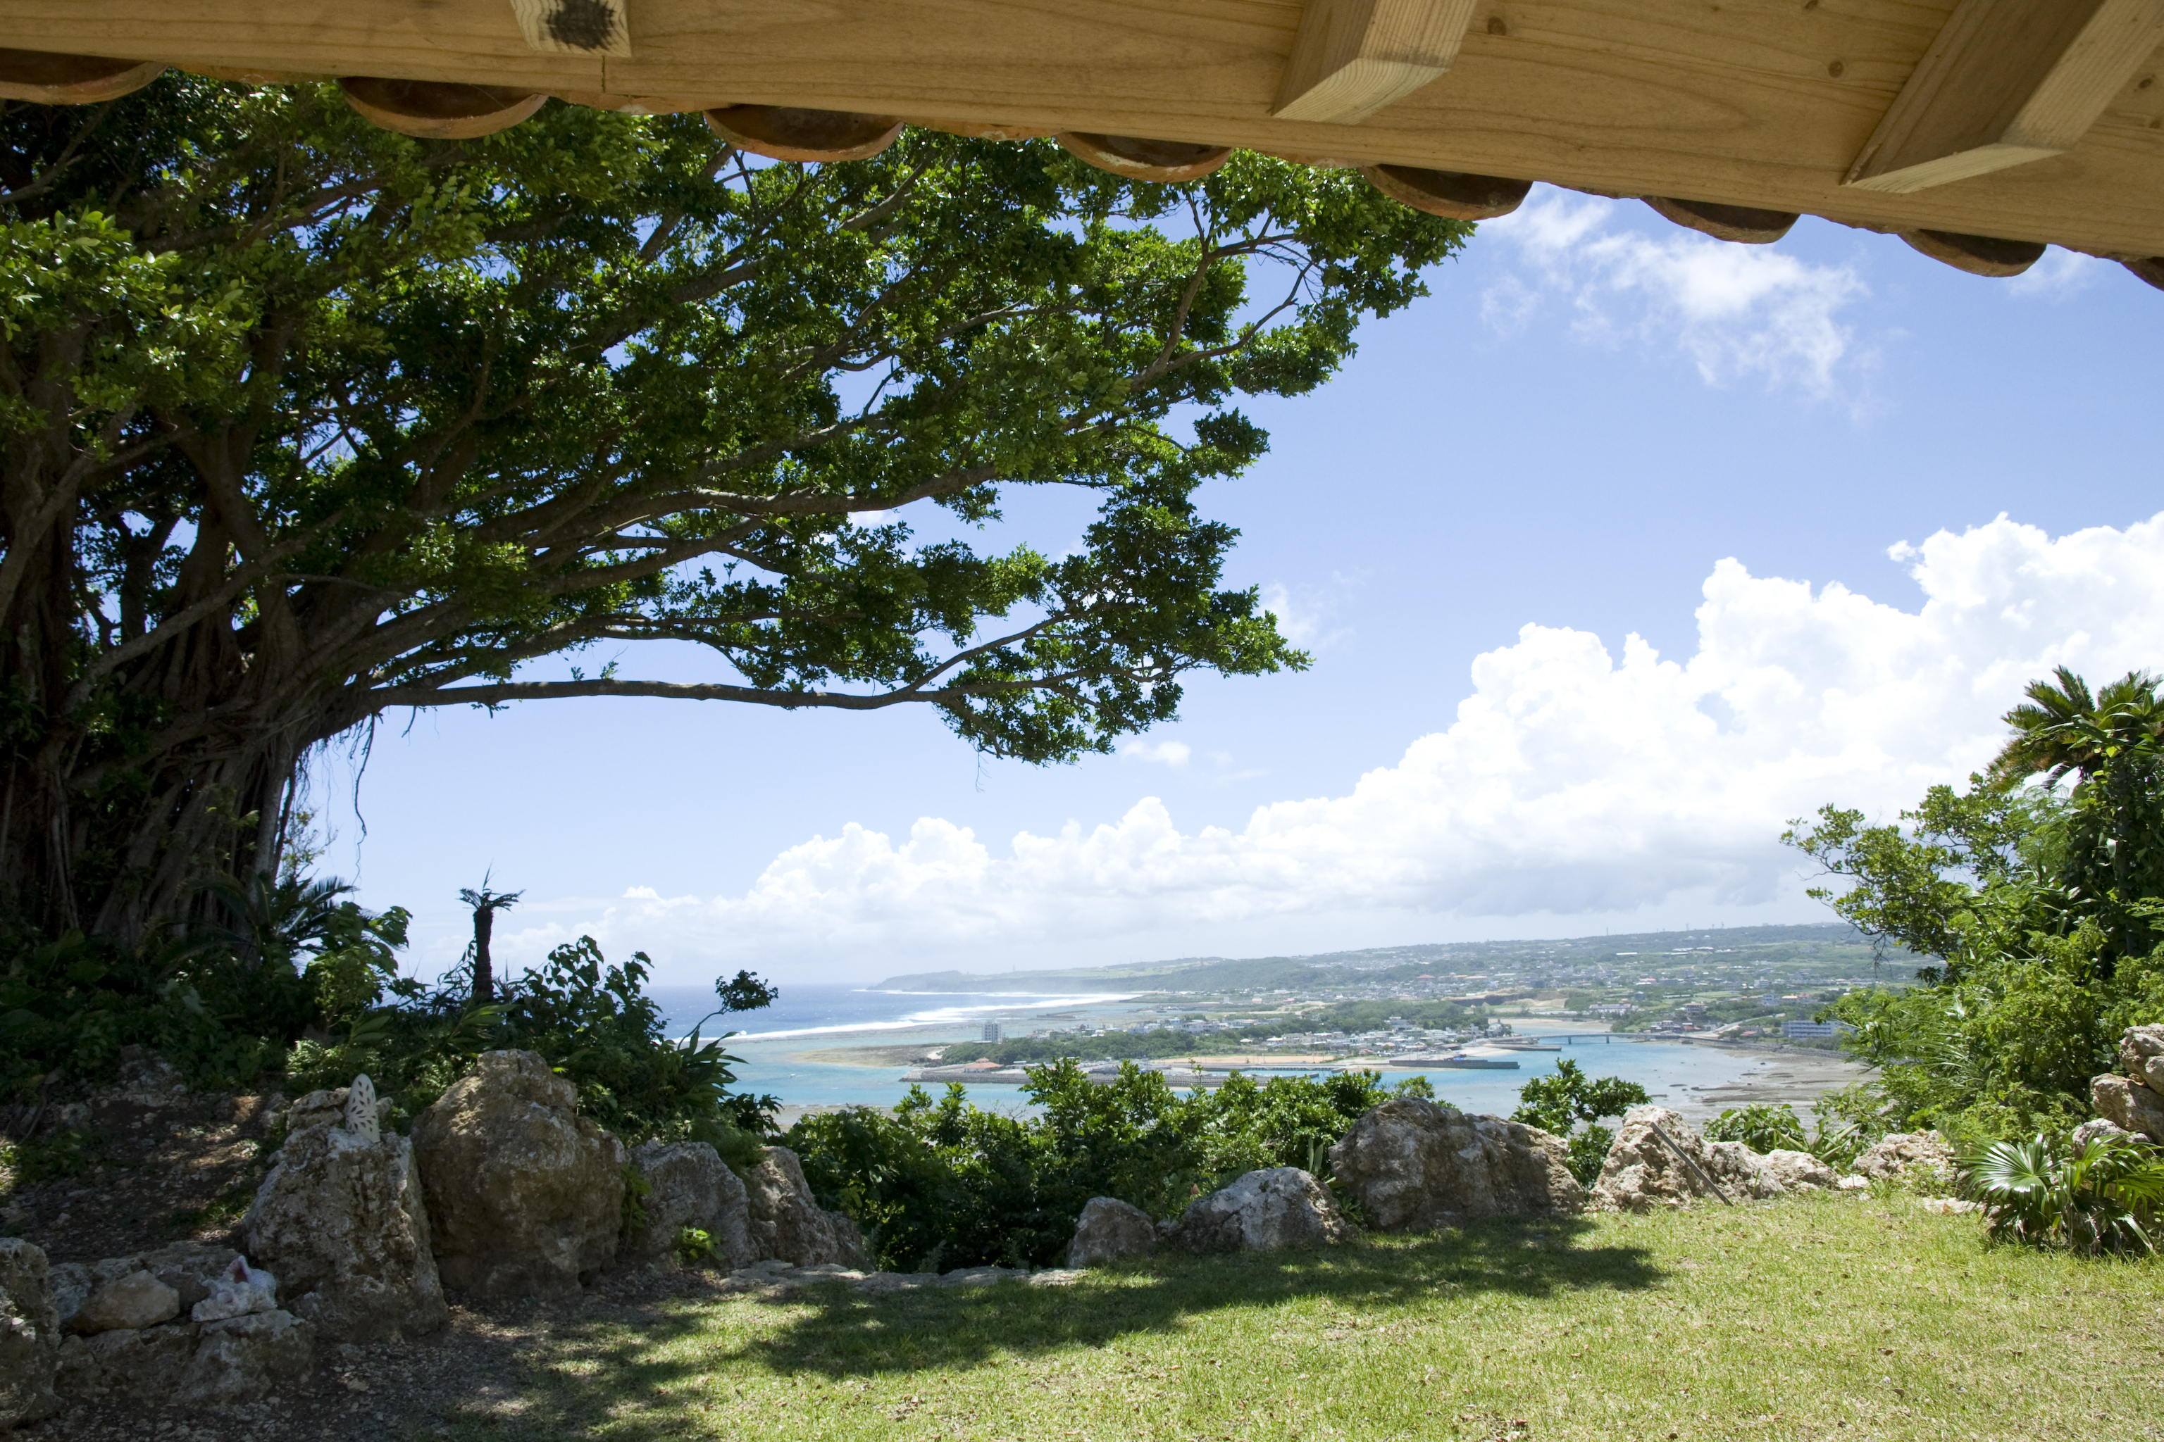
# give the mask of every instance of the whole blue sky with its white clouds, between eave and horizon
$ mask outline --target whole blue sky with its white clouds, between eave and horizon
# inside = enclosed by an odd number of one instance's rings
[[[489,871],[513,960],[593,932],[688,984],[1805,921],[1781,819],[1958,780],[2058,659],[2164,666],[2164,294],[2119,266],[1536,188],[1430,288],[1203,495],[1307,675],[1071,767],[911,709],[390,716],[357,789],[316,767],[327,869],[422,971]],[[1058,549],[1088,506],[1008,517]]]

